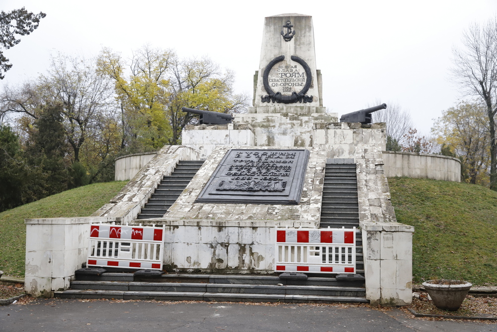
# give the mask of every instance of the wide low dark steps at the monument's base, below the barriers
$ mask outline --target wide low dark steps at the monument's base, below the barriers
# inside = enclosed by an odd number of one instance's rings
[[[333,303],[368,302],[357,281],[330,277],[305,280],[254,274],[164,274],[138,277],[133,273],[103,273],[93,280],[75,280],[71,289],[55,292],[65,299]],[[362,281],[363,283],[363,281]]]

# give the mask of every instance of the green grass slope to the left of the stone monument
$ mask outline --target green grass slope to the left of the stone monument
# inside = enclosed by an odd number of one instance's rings
[[[5,275],[24,276],[24,219],[89,216],[108,203],[126,183],[95,183],[0,213],[0,270]]]

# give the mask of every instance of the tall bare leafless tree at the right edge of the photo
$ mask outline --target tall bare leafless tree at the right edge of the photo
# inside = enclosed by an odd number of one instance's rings
[[[454,80],[468,96],[485,105],[490,134],[490,189],[497,191],[497,17],[472,24],[463,33],[463,47],[454,48]]]

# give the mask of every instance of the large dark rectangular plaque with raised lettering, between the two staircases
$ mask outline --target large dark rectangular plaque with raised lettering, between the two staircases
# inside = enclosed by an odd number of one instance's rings
[[[195,203],[297,205],[310,152],[231,149]]]

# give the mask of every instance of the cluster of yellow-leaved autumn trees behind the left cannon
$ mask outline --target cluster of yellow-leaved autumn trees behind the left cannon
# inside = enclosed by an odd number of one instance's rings
[[[246,95],[233,93],[233,73],[208,58],[179,59],[171,50],[144,46],[128,62],[103,49],[98,66],[114,81],[128,152],[180,143],[181,130],[196,121],[182,107],[239,112],[248,106]]]

